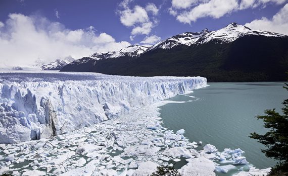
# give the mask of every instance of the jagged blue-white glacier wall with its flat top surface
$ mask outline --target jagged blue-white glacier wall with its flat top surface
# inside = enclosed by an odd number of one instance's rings
[[[0,143],[64,134],[206,83],[199,76],[0,73]]]

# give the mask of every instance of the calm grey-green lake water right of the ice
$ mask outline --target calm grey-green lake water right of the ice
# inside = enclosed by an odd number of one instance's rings
[[[176,132],[184,129],[184,136],[192,141],[210,143],[218,151],[241,148],[247,161],[257,168],[267,168],[276,162],[260,150],[263,145],[249,138],[256,131],[264,134],[263,121],[255,116],[264,115],[265,109],[281,111],[288,98],[283,82],[210,82],[210,86],[194,93],[179,95],[172,103],[160,107],[163,126]],[[198,147],[201,149],[200,147]]]

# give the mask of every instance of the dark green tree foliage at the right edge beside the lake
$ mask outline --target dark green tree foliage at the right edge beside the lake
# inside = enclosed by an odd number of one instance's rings
[[[288,84],[284,88],[288,91]],[[267,149],[261,149],[267,157],[278,160],[277,165],[272,168],[272,172],[288,171],[288,99],[284,100],[283,115],[277,113],[275,109],[265,110],[264,116],[257,116],[257,119],[264,121],[264,127],[269,131],[260,135],[251,133],[251,138],[258,140]]]

